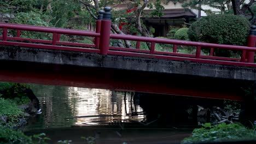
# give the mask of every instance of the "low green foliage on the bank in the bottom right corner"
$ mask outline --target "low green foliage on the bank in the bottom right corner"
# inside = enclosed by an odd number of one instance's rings
[[[200,129],[194,129],[190,137],[181,143],[221,142],[234,140],[255,140],[253,129],[247,129],[240,123],[211,125],[206,123]]]

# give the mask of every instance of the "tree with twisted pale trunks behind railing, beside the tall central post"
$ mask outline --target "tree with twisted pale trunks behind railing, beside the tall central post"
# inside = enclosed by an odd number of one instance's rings
[[[97,19],[97,11],[100,9],[103,9],[103,7],[106,7],[108,5],[117,5],[121,3],[121,1],[111,1],[111,0],[104,0],[104,1],[98,1],[98,0],[78,0],[82,5],[83,8],[86,9],[90,15],[96,20]],[[144,0],[143,2],[140,0],[136,1],[129,1],[131,5],[134,5],[134,7],[137,9],[135,11],[132,11],[132,13],[127,14],[125,10],[112,10],[112,32],[117,34],[124,34],[118,27],[118,23],[120,22],[130,22],[132,26],[135,26],[136,33],[139,33],[145,37],[150,37],[149,29],[143,25],[143,22],[141,20],[141,15],[143,13],[143,10],[146,7],[154,8],[152,12],[152,16],[158,16],[160,17],[162,15],[161,10],[164,9],[161,5],[160,0],[156,1],[150,1],[150,0]],[[133,25],[134,24],[134,25]],[[130,41],[125,40],[126,47],[131,47]],[[148,43],[148,47],[150,47],[150,43]]]

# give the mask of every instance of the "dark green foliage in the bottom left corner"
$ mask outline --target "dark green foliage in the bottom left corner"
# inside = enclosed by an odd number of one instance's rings
[[[24,135],[21,131],[15,131],[0,125],[0,144],[2,143],[30,144],[33,142],[31,137]]]

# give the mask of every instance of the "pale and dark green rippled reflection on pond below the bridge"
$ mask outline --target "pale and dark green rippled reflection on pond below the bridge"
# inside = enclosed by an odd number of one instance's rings
[[[144,115],[126,115],[124,92],[45,85],[30,87],[37,95],[43,113],[32,118],[26,130],[142,121],[145,118]],[[127,94],[127,113],[132,112],[130,104],[131,94]],[[134,105],[132,107],[135,108]],[[143,111],[139,106],[136,106],[136,109]],[[115,117],[117,115],[118,117]],[[73,118],[77,116],[91,117]]]

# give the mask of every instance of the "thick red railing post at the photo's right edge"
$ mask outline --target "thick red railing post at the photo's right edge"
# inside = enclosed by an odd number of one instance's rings
[[[250,33],[249,33],[249,36],[248,36],[247,46],[255,47],[255,45],[256,45],[256,27],[252,26],[251,30],[250,30]],[[248,63],[254,63],[254,52],[247,51],[246,56],[247,56],[247,62]]]

